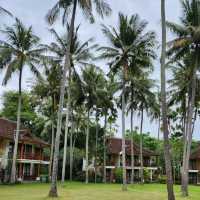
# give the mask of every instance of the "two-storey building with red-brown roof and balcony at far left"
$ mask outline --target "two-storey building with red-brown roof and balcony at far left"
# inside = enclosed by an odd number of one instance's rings
[[[11,167],[16,122],[0,118],[0,180]],[[17,179],[39,180],[41,173],[48,171],[49,158],[44,156],[44,149],[49,144],[33,136],[29,129],[21,128],[17,153]]]

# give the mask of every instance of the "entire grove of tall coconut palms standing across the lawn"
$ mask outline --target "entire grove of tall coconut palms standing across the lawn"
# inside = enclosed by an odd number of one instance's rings
[[[165,0],[161,0],[162,19],[162,54],[161,54],[161,91],[156,94],[155,81],[150,78],[153,71],[153,61],[156,58],[157,45],[155,33],[146,31],[147,22],[139,16],[126,16],[119,13],[117,27],[102,25],[102,32],[108,40],[107,46],[95,45],[93,39],[81,42],[78,37],[79,26],[75,27],[77,9],[83,12],[86,20],[95,22],[94,9],[100,17],[109,16],[111,8],[105,0],[58,0],[46,15],[49,25],[53,25],[59,17],[66,34],[60,36],[55,29],[50,29],[55,41],[44,45],[33,33],[32,27],[25,27],[19,19],[11,27],[5,26],[1,31],[5,40],[0,41],[0,66],[5,69],[3,84],[7,84],[14,72],[19,73],[19,100],[17,112],[17,130],[13,153],[11,182],[16,180],[16,157],[20,134],[20,112],[22,106],[22,78],[23,69],[29,67],[36,75],[33,88],[43,102],[51,102],[51,114],[48,118],[51,124],[51,189],[49,196],[56,197],[57,175],[60,138],[63,127],[63,107],[65,109],[64,153],[62,163],[62,182],[65,181],[66,152],[70,137],[70,178],[73,167],[74,127],[85,129],[86,133],[86,183],[88,183],[89,166],[89,137],[90,122],[95,116],[95,123],[104,117],[103,139],[103,180],[106,182],[106,131],[107,123],[116,117],[116,105],[121,109],[122,118],[122,163],[123,190],[127,190],[126,181],[126,147],[125,147],[125,117],[130,115],[131,133],[133,133],[133,116],[139,114],[140,123],[140,177],[143,177],[143,120],[144,114],[150,118],[162,120],[164,138],[165,169],[167,174],[168,199],[174,200],[172,163],[169,143],[169,109],[174,105],[182,115],[183,131],[183,162],[182,162],[182,194],[188,195],[188,169],[192,135],[198,111],[198,72],[200,49],[200,2],[199,0],[183,0],[183,16],[181,24],[166,22]],[[12,17],[4,8],[0,7],[0,14]],[[167,43],[166,28],[177,36]],[[98,52],[98,56],[94,55]],[[107,75],[94,64],[96,59],[107,61],[109,73]],[[167,61],[166,61],[167,60]],[[169,81],[171,91],[166,92],[166,67],[173,67],[173,79]],[[41,70],[43,69],[43,73]],[[183,77],[185,77],[183,79]],[[184,80],[184,81],[183,81]],[[66,91],[65,91],[66,90]],[[119,98],[115,100],[115,94]],[[170,107],[170,103],[173,105]],[[83,120],[84,119],[84,120]],[[87,123],[82,123],[86,121]],[[71,125],[70,125],[71,122]],[[86,128],[85,128],[86,127]],[[98,126],[96,126],[96,147],[98,146]],[[69,130],[70,128],[70,130]],[[69,136],[70,133],[70,136]],[[131,183],[134,183],[134,151],[133,135],[131,137]],[[96,148],[97,149],[97,148]],[[97,152],[95,163],[97,162]]]

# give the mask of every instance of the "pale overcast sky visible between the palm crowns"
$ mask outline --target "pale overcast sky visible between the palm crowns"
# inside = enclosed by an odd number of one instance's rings
[[[48,32],[49,26],[44,20],[44,16],[47,11],[55,4],[56,0],[0,0],[0,6],[8,9],[13,13],[14,16],[18,17],[24,24],[27,26],[32,25],[34,33],[41,37],[42,43],[49,43],[53,40],[52,35]],[[82,40],[94,37],[95,42],[99,45],[106,44],[106,40],[101,33],[101,23],[106,25],[116,26],[118,23],[118,13],[122,12],[126,15],[139,14],[141,19],[145,19],[149,22],[148,30],[153,30],[156,32],[157,40],[160,42],[161,36],[161,24],[160,24],[160,0],[108,0],[113,12],[112,15],[108,18],[105,18],[103,21],[99,17],[96,17],[96,23],[91,25],[85,21],[81,13],[78,11],[78,16],[76,18],[76,24],[81,24],[79,35]],[[167,0],[166,1],[166,15],[168,21],[178,22],[181,15],[181,4],[179,0]],[[12,24],[13,21],[9,17],[0,18],[0,26],[3,27],[3,24]],[[64,33],[64,29],[60,21],[54,26],[58,33]],[[168,33],[168,40],[173,36]],[[0,35],[0,39],[2,36]],[[158,51],[158,54],[159,51]],[[104,71],[108,70],[106,63],[101,63],[101,67]],[[155,70],[153,73],[153,78],[159,81],[160,71],[159,71],[159,62],[155,62]],[[0,82],[2,82],[3,75],[0,75]],[[24,71],[23,76],[23,88],[29,89],[29,79],[33,79],[30,76],[28,70]],[[8,83],[6,87],[0,87],[0,95],[3,91],[8,89],[18,89],[17,88],[17,75],[13,76],[12,80]],[[119,113],[120,115],[120,113]],[[139,120],[135,117],[134,126],[139,126]],[[121,129],[121,118],[117,120],[119,125],[119,133]],[[126,128],[129,128],[129,118],[126,120]],[[198,134],[199,127],[196,127],[195,138],[200,139]],[[149,120],[145,117],[144,123],[144,132],[151,132],[152,135],[156,136],[157,134],[157,124],[150,123]]]

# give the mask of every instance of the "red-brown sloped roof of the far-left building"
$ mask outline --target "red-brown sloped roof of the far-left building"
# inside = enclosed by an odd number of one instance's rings
[[[0,137],[14,141],[14,134],[17,129],[17,123],[5,118],[0,118]],[[33,136],[29,129],[21,127],[19,134],[19,142],[37,144],[43,147],[48,147],[49,144],[40,138]]]

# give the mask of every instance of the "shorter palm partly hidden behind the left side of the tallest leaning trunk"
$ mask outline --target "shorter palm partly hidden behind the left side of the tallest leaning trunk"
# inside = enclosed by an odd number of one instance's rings
[[[50,114],[47,115],[46,126],[51,125],[51,153],[49,164],[49,178],[51,178],[53,152],[55,143],[55,124],[56,115],[59,103],[59,90],[61,78],[61,66],[58,62],[47,60],[43,62],[44,72],[43,76],[38,77],[33,84],[33,93],[42,101],[49,101],[50,99]]]

